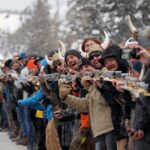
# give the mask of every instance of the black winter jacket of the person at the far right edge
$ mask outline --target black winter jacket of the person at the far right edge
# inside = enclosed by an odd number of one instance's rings
[[[150,69],[147,70],[143,79],[148,83],[148,92],[150,92]],[[134,150],[149,150],[150,147],[150,97],[140,94],[136,100],[134,128],[144,130],[144,137],[134,141]]]

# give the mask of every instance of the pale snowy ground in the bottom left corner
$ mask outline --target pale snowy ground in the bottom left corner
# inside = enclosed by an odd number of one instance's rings
[[[16,145],[9,139],[7,133],[0,132],[0,150],[27,150],[27,148]]]

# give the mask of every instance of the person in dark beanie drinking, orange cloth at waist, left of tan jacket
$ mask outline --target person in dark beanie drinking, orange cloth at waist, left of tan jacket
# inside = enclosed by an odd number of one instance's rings
[[[82,58],[79,63],[79,71],[81,74],[85,74],[86,72],[94,72],[94,68],[91,65],[90,61],[87,58]],[[79,97],[85,97],[88,93],[87,90],[84,89],[84,87],[81,84],[81,81],[79,78],[77,78],[75,81],[72,82],[72,87],[74,91],[79,92]],[[76,95],[77,96],[77,95]],[[76,131],[74,133],[70,150],[75,149],[82,149],[82,150],[91,150],[95,149],[95,140],[92,135],[91,131],[91,125],[90,125],[90,118],[89,114],[84,113],[77,113],[79,118],[79,125],[76,128]],[[82,142],[84,140],[84,142]]]

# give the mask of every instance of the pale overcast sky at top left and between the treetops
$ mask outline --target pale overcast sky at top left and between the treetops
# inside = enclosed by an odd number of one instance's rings
[[[27,6],[32,5],[32,3],[36,0],[0,0],[0,9],[10,9],[10,10],[23,10]],[[60,3],[60,12],[66,12],[68,0],[59,0]],[[56,9],[56,0],[49,0],[51,4],[52,11]]]

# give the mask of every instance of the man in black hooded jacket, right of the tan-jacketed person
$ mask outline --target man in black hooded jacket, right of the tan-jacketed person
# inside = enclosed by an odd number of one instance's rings
[[[122,49],[119,46],[111,45],[103,51],[100,60],[106,69],[108,71],[114,71],[114,74],[116,71],[121,71],[122,73],[128,73],[129,71],[129,64],[127,60],[121,59],[121,52]],[[130,120],[132,106],[131,96],[128,91],[121,94],[116,89],[113,89],[113,84],[111,85],[107,82],[104,84],[103,88],[100,89],[100,92],[103,93],[112,109],[112,120],[117,138],[117,149],[122,150],[125,149],[128,140],[126,128],[122,127],[126,125],[122,125],[122,122],[129,122]],[[109,90],[109,92],[107,90]]]

